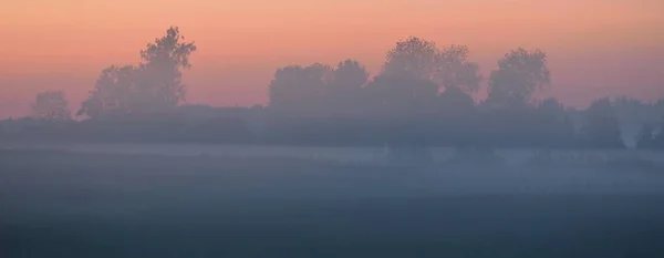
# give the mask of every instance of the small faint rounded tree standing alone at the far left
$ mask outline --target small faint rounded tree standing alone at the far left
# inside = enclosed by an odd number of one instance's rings
[[[38,120],[69,121],[72,118],[68,101],[62,91],[45,91],[37,94],[32,115]]]

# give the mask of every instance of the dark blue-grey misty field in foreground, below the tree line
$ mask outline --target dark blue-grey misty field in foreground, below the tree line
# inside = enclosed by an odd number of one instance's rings
[[[664,172],[126,149],[0,151],[0,257],[664,257]]]

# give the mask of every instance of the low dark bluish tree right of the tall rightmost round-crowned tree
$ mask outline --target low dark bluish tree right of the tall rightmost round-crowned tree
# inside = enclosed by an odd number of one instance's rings
[[[585,110],[585,141],[592,147],[624,147],[615,110],[609,99],[600,99]]]

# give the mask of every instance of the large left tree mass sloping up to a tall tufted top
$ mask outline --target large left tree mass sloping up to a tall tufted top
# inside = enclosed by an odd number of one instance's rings
[[[102,71],[90,97],[76,115],[93,118],[110,114],[145,114],[167,111],[185,100],[181,70],[189,69],[194,42],[183,42],[177,27],[141,51],[137,66],[110,66]]]

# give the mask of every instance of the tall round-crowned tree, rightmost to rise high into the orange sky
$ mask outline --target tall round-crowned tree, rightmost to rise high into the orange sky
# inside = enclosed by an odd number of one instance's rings
[[[489,76],[487,102],[498,106],[527,104],[550,82],[547,54],[519,48],[498,60],[498,69]]]

